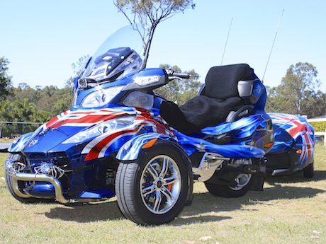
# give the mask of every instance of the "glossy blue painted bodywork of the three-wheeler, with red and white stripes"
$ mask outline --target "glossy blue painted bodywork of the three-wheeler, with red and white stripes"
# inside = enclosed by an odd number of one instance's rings
[[[60,181],[66,197],[98,199],[113,197],[114,190],[111,183],[108,184],[108,173],[116,170],[118,161],[137,159],[145,150],[142,147],[152,139],[157,139],[156,144],[164,141],[178,145],[180,152],[188,157],[193,153],[212,152],[226,158],[263,158],[271,149],[264,147],[266,142],[273,142],[274,137],[271,119],[264,112],[266,91],[259,79],[253,86],[252,94],[257,98],[257,103],[251,115],[235,122],[206,127],[200,133],[185,135],[169,127],[159,116],[163,98],[154,95],[151,110],[130,108],[121,103],[133,91],[128,87],[133,86],[136,77],[153,75],[162,77],[164,81],[166,74],[163,69],[144,69],[112,83],[77,91],[77,100],[71,110],[57,115],[34,133],[21,136],[9,151],[21,154],[32,173],[42,163],[53,163],[65,170]],[[123,86],[124,89],[110,103],[96,108],[82,108],[81,103],[87,95],[113,86]],[[65,142],[103,122],[123,117],[131,117],[133,122],[123,129],[109,130],[77,143]],[[225,138],[227,142],[219,142]],[[47,182],[38,182],[32,187],[26,182],[25,190],[38,197],[55,195],[53,187]]]

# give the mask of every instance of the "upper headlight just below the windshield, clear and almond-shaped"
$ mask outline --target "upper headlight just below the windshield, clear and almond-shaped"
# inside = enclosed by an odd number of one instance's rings
[[[89,95],[86,95],[86,98],[81,102],[81,107],[84,108],[94,108],[101,107],[106,105],[108,102],[112,100],[124,86],[113,86],[106,89],[101,89],[99,91],[94,91]]]

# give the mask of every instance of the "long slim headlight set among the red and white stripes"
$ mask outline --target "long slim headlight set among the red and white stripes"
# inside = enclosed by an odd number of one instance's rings
[[[101,124],[97,124],[94,127],[91,127],[90,129],[86,129],[82,132],[78,132],[77,134],[74,134],[74,136],[62,142],[62,144],[81,143],[86,140],[95,138],[96,136],[100,136],[101,134],[107,132],[113,132],[114,130],[128,127],[130,124],[133,123],[134,120],[135,120],[135,116],[125,116],[125,117],[118,117],[113,120],[105,121],[102,122]]]

